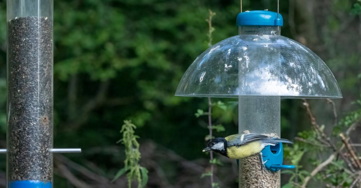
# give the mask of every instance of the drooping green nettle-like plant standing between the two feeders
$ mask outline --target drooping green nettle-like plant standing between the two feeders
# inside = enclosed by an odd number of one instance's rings
[[[139,143],[136,140],[139,137],[134,134],[134,129],[136,129],[136,126],[132,124],[130,120],[124,120],[122,129],[120,130],[120,132],[123,133],[123,138],[117,143],[121,142],[125,146],[126,159],[124,161],[124,168],[118,171],[113,181],[127,172],[128,187],[131,188],[132,181],[137,181],[138,188],[142,188],[147,185],[148,170],[139,165]]]

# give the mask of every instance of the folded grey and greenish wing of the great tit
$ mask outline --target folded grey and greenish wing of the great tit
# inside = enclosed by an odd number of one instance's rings
[[[226,137],[227,146],[240,146],[262,138],[269,138],[263,134],[233,134]]]

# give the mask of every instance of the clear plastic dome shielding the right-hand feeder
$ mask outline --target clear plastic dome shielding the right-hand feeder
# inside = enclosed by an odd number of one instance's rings
[[[314,52],[270,34],[237,35],[213,45],[190,65],[175,95],[342,97],[334,75]]]

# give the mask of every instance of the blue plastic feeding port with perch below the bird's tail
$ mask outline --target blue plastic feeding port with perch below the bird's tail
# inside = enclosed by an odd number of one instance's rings
[[[275,146],[266,146],[262,150],[262,158],[265,162],[266,169],[278,171],[280,169],[293,169],[293,165],[283,165],[283,145],[278,143]]]

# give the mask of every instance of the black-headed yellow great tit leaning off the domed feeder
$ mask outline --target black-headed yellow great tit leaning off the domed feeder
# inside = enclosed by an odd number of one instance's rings
[[[287,139],[263,134],[233,134],[225,138],[212,139],[203,152],[213,150],[232,159],[243,159],[261,153],[267,145],[275,146],[279,142],[292,143]]]

